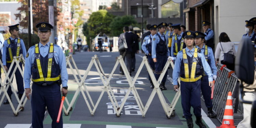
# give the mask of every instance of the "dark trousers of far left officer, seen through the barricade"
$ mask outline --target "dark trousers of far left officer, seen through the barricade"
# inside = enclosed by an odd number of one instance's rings
[[[11,70],[11,72],[9,74],[9,78],[11,78],[11,75],[13,74],[13,70],[14,70],[14,68],[16,66],[16,63],[14,63],[12,69],[10,69],[10,66],[11,66],[11,63],[6,63],[6,67],[8,68],[8,70]],[[22,63],[21,62],[19,63],[19,66],[22,69]],[[18,68],[17,68],[17,70],[15,72],[15,78],[16,78],[16,83],[17,83],[17,88],[18,88],[18,93],[17,94],[23,94],[24,93],[23,77],[20,74]],[[8,95],[12,95],[12,88],[11,88],[11,86],[9,86],[9,88],[7,90],[7,93],[8,93]]]

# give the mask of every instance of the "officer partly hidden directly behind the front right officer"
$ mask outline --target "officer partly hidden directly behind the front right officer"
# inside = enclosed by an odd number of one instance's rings
[[[212,72],[213,72],[213,79],[216,80],[217,78],[217,68],[215,65],[215,59],[214,54],[211,47],[208,47],[207,45],[204,45],[206,36],[204,33],[200,31],[195,31],[196,38],[195,38],[195,44],[196,48],[198,49],[198,52],[204,54],[205,60],[210,65]],[[213,113],[212,111],[212,100],[211,100],[211,87],[209,86],[208,76],[203,74],[203,80],[201,81],[201,91],[203,94],[205,106],[208,109],[208,117],[214,118],[217,115]]]

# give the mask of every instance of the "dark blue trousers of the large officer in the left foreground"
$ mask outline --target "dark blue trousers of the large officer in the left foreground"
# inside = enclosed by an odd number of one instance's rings
[[[31,107],[32,107],[32,127],[43,128],[45,107],[52,118],[52,128],[62,128],[62,113],[59,123],[56,123],[61,102],[60,86],[53,85],[42,86],[32,85]]]

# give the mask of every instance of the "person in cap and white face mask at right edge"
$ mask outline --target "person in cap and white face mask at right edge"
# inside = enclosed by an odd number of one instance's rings
[[[246,34],[244,34],[242,38],[249,37],[252,41],[252,45],[255,47],[254,39],[255,39],[256,33],[253,31],[254,25],[255,24],[253,22],[245,20],[245,32],[246,32]]]

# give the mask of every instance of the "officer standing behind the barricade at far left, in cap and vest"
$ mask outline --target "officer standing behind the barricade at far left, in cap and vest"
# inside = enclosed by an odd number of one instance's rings
[[[3,61],[3,66],[8,72],[8,70],[11,70],[9,74],[9,78],[13,74],[13,70],[16,66],[16,63],[14,63],[12,69],[10,69],[11,63],[13,61],[14,56],[19,56],[20,54],[23,54],[23,57],[26,58],[26,47],[22,39],[17,38],[19,34],[19,24],[8,26],[9,27],[9,32],[11,33],[11,37],[7,40],[4,41],[3,43],[3,48],[2,48],[2,61]],[[22,62],[19,62],[19,66],[22,68]],[[17,88],[18,88],[18,97],[19,100],[22,98],[22,95],[24,93],[24,84],[23,84],[23,79],[22,75],[20,74],[19,70],[17,69],[15,72],[15,77],[16,77],[16,83],[17,83]],[[12,95],[12,89],[9,86],[7,93],[11,98]],[[3,104],[9,104],[10,102],[8,100],[5,100]]]

